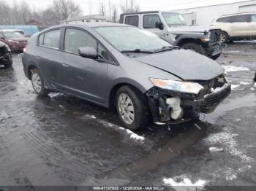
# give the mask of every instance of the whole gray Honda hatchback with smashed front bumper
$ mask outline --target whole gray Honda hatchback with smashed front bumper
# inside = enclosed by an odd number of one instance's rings
[[[50,90],[116,110],[129,129],[177,124],[213,112],[230,94],[219,63],[149,31],[116,23],[54,26],[31,36],[22,57],[38,95]]]

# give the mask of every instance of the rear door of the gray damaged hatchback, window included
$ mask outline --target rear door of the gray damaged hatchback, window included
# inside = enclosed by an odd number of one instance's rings
[[[43,77],[52,87],[58,88],[61,84],[61,52],[59,43],[61,39],[61,28],[46,31],[38,39],[39,50],[36,58]]]

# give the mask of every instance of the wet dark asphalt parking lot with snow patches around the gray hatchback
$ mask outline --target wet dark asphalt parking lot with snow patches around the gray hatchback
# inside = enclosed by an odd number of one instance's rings
[[[233,91],[214,113],[139,132],[86,101],[38,98],[13,59],[0,69],[0,185],[256,185],[256,43],[230,44],[217,60]]]

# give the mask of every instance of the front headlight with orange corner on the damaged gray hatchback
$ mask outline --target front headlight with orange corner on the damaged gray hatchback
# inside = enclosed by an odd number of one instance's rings
[[[198,94],[203,90],[203,86],[196,82],[180,82],[167,79],[149,78],[150,81],[157,87],[167,90],[173,90],[184,93]]]

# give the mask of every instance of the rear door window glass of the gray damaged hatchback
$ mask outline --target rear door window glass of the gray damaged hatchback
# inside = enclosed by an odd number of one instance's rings
[[[60,37],[61,37],[61,29],[46,32],[43,45],[45,47],[53,47],[53,48],[59,49]]]

